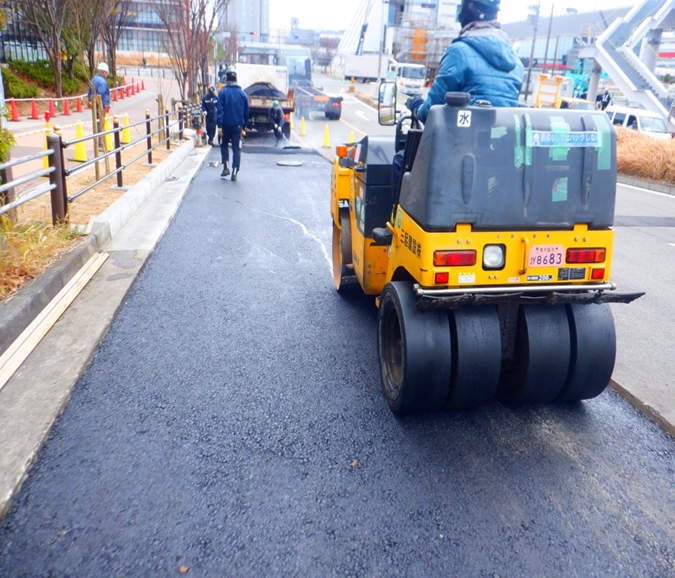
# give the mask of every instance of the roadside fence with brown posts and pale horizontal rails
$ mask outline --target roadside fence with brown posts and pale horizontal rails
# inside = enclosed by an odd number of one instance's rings
[[[73,139],[69,141],[64,141],[59,134],[58,127],[54,128],[54,132],[47,135],[47,149],[45,151],[21,157],[18,159],[11,159],[5,163],[0,164],[0,178],[2,179],[2,184],[0,185],[0,215],[13,211],[17,207],[27,203],[37,197],[44,195],[46,193],[51,193],[51,208],[52,208],[52,223],[54,225],[67,223],[68,222],[68,206],[75,199],[84,195],[86,192],[90,191],[97,185],[107,181],[113,176],[117,177],[117,187],[123,187],[123,171],[129,165],[135,163],[142,157],[147,155],[148,164],[152,165],[152,151],[156,148],[166,144],[166,150],[171,150],[171,128],[172,125],[178,128],[178,140],[183,139],[183,130],[186,128],[188,120],[190,118],[190,113],[195,110],[201,110],[199,105],[189,105],[185,107],[179,107],[175,112],[170,112],[169,107],[165,107],[164,114],[157,115],[155,117],[150,116],[150,111],[145,111],[145,120],[141,120],[128,125],[120,125],[119,120],[116,116],[113,117],[113,128],[107,131],[101,131],[94,133],[89,136],[85,136],[79,139]],[[172,123],[172,120],[174,121]],[[157,123],[157,129],[153,130],[152,123]],[[128,143],[121,143],[121,132],[125,129],[131,129],[133,127],[145,125],[145,134],[141,135],[139,138],[132,140]],[[108,135],[112,135],[114,139],[114,148],[112,150],[105,150],[105,141]],[[159,135],[156,144],[153,144],[152,139],[154,136]],[[80,166],[73,168],[66,168],[66,163],[64,161],[64,150],[69,146],[87,142],[94,141],[94,151],[97,150],[98,143],[104,144],[103,154],[97,155],[94,153],[94,158],[82,163]],[[133,159],[127,161],[126,163],[122,162],[122,152],[128,148],[137,146],[138,144],[145,141],[146,149],[139,155],[135,156]],[[84,187],[83,189],[77,191],[72,195],[68,195],[67,188],[67,178],[71,177],[86,168],[104,161],[110,157],[115,159],[115,169],[108,172],[101,178]],[[39,171],[34,171],[22,177],[12,179],[11,178],[11,168],[28,163],[31,161],[39,160],[42,158],[47,158],[48,168],[42,169]],[[23,192],[18,198],[11,200],[10,202],[3,203],[4,198],[12,198],[12,191],[21,185],[29,183],[33,180],[49,177],[48,185],[37,185],[30,188],[28,191]],[[98,174],[97,174],[98,177]]]

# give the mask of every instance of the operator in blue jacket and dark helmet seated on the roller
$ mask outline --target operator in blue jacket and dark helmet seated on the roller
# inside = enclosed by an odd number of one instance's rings
[[[422,122],[435,104],[444,104],[446,92],[468,92],[471,103],[487,100],[492,106],[518,106],[523,85],[523,63],[497,21],[500,0],[462,0],[457,16],[462,30],[448,46],[426,100],[409,101]],[[394,155],[394,195],[403,165],[403,151]]]

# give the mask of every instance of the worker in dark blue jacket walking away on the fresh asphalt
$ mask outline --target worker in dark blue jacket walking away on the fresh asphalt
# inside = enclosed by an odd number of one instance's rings
[[[241,160],[241,133],[248,123],[248,98],[237,84],[237,71],[230,67],[225,71],[225,86],[218,94],[218,136],[220,136],[220,158],[223,161],[221,178],[230,170],[227,161],[230,156],[228,143],[232,143],[232,180],[237,180]]]

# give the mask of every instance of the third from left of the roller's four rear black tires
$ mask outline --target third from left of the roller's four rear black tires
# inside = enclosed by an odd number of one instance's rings
[[[564,305],[521,305],[515,359],[502,368],[497,399],[503,403],[550,403],[563,391],[571,343]]]

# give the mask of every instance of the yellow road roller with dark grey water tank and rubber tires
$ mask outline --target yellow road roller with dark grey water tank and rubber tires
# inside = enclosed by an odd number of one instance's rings
[[[401,117],[395,136],[341,145],[333,163],[335,287],[376,297],[398,415],[593,398],[615,362],[608,304],[643,295],[611,281],[607,115],[469,102],[448,93],[423,130]]]

